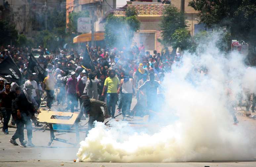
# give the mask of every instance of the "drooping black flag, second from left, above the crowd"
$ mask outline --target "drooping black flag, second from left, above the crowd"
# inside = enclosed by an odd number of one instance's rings
[[[29,73],[36,73],[39,81],[43,81],[44,78],[48,75],[47,71],[40,66],[40,64],[37,62],[37,60],[32,54],[29,55],[27,69]]]

